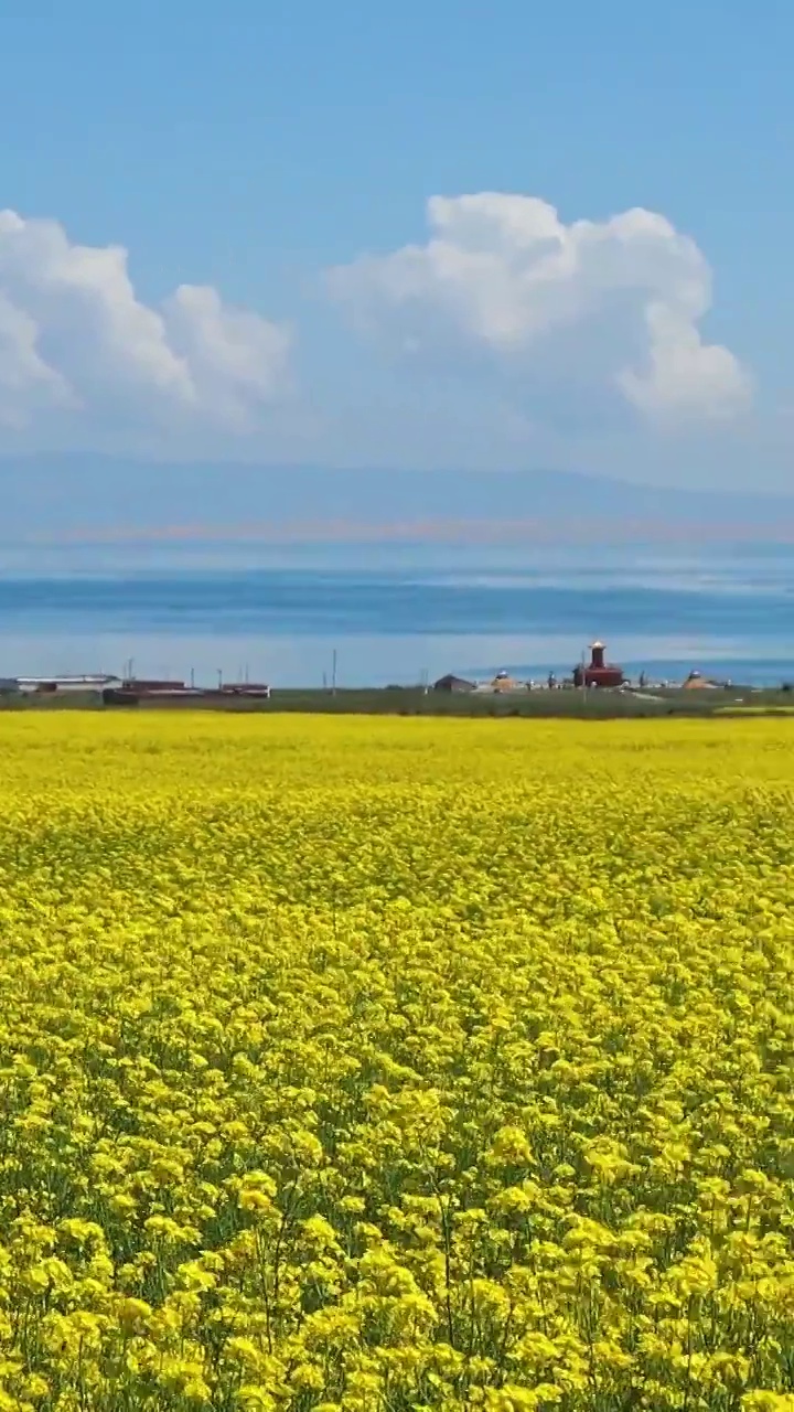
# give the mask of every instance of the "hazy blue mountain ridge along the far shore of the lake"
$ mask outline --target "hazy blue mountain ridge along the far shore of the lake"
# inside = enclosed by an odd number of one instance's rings
[[[571,470],[365,470],[157,463],[110,456],[0,457],[4,530],[146,532],[157,527],[390,522],[664,521],[794,528],[794,496],[678,490]]]

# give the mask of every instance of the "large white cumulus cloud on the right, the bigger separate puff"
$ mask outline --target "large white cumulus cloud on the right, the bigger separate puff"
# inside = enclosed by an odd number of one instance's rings
[[[533,196],[434,196],[429,239],[328,271],[366,330],[405,353],[487,352],[530,397],[609,390],[648,417],[723,418],[750,378],[699,329],[711,308],[701,250],[660,215],[565,225]]]

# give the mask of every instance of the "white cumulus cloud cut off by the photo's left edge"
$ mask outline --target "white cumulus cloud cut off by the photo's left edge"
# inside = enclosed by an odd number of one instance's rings
[[[66,414],[246,428],[284,388],[290,330],[181,285],[143,302],[120,246],[0,212],[0,425]]]

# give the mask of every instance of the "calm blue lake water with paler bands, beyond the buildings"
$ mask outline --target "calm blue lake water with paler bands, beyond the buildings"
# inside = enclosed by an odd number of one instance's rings
[[[624,546],[524,552],[191,546],[0,554],[0,675],[122,672],[196,682],[249,674],[342,686],[569,672],[593,638],[629,674],[691,668],[794,679],[794,554]],[[348,562],[346,562],[348,561]]]

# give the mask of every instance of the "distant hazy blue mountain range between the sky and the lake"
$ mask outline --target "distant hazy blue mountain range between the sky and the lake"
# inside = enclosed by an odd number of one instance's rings
[[[733,534],[794,541],[794,497],[671,490],[555,470],[326,470],[158,465],[105,456],[0,459],[8,541]]]

